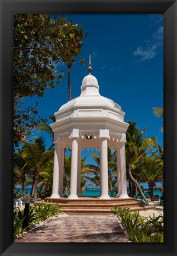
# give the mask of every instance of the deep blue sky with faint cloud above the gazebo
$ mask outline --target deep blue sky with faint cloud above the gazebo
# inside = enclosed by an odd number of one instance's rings
[[[136,121],[140,129],[147,127],[146,137],[157,137],[163,146],[160,127],[163,122],[152,111],[163,107],[163,15],[162,14],[63,14],[74,24],[82,24],[84,39],[82,53],[85,66],[71,68],[72,98],[81,94],[82,79],[88,74],[89,54],[92,75],[99,84],[99,92],[118,103],[125,112],[124,121]],[[59,62],[56,70],[66,69]],[[43,98],[30,97],[25,105],[38,102],[38,115],[49,118],[68,100],[67,72],[59,86],[47,89]],[[39,135],[33,131],[33,136]],[[46,137],[47,145],[52,141]],[[89,151],[91,153],[91,151]],[[88,154],[87,151],[82,156]],[[90,161],[88,157],[88,162]]]

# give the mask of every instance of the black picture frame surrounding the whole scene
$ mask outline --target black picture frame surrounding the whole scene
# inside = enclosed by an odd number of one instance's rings
[[[13,243],[13,15],[136,13],[164,17],[165,242]],[[177,2],[175,0],[1,0],[1,255],[176,255]]]

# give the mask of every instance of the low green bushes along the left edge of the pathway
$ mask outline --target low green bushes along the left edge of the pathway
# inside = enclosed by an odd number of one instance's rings
[[[28,227],[23,227],[25,220],[24,210],[20,208],[14,211],[14,239],[22,238],[24,232],[30,228],[36,227],[37,224],[41,222],[49,222],[53,216],[63,214],[57,204],[44,203],[43,201],[38,204],[38,206],[32,204],[30,206],[28,215]]]

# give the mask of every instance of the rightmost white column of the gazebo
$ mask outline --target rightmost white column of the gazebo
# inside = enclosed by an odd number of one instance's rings
[[[119,198],[129,198],[127,195],[125,143],[120,144],[120,172],[121,172],[121,194]]]

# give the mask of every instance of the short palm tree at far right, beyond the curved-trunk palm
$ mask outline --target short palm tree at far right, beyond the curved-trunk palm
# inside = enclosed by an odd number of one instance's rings
[[[144,182],[149,185],[150,198],[153,200],[153,188],[156,182],[163,180],[162,165],[156,157],[145,157],[143,162],[143,169],[141,170],[141,177]]]

